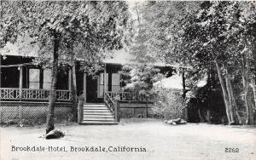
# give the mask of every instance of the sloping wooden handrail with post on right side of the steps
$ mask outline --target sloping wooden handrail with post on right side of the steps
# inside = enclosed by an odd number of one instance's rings
[[[119,123],[119,101],[114,101],[107,92],[104,93],[104,103],[114,115],[114,120]]]

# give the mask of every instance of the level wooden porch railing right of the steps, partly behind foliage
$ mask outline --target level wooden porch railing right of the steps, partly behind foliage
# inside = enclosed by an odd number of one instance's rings
[[[112,100],[154,102],[154,96],[146,96],[135,92],[108,92]]]

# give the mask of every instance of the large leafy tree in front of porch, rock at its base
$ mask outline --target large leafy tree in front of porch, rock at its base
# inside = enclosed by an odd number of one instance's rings
[[[32,45],[40,48],[36,62],[51,68],[46,129],[46,133],[49,133],[54,129],[58,67],[68,62],[74,66],[74,60],[81,56],[85,71],[91,74],[96,71],[99,58],[105,50],[122,47],[123,31],[128,19],[127,5],[125,2],[29,1],[4,1],[2,4],[2,46],[11,40],[15,42],[18,35],[24,36],[23,33],[26,33],[34,38]]]

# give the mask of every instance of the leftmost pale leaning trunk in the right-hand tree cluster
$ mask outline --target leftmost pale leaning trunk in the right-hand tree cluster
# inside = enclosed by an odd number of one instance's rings
[[[223,77],[221,75],[221,71],[220,71],[220,68],[218,66],[218,61],[214,60],[214,62],[215,62],[215,65],[216,65],[216,68],[217,68],[217,71],[218,71],[218,79],[219,79],[219,83],[220,83],[221,89],[222,89],[222,94],[223,94],[223,97],[224,97],[224,104],[225,104],[225,108],[226,108],[226,115],[228,117],[229,123],[231,123],[230,103],[229,103],[227,91],[225,89],[224,79],[223,79]]]

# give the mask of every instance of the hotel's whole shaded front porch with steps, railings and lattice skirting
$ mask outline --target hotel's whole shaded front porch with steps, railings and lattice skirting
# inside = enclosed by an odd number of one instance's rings
[[[23,57],[7,56],[4,60],[2,59],[2,62],[3,66],[0,66],[0,120],[46,117],[51,71],[34,66],[31,59]],[[82,121],[88,116],[99,119],[105,117],[102,116],[104,114],[108,114],[107,119],[113,120],[114,123],[119,123],[119,117],[148,117],[148,108],[150,108],[148,104],[151,103],[148,98],[135,93],[122,92],[123,86],[118,72],[121,69],[120,65],[105,64],[103,70],[97,72],[95,77],[79,71],[79,63],[76,68],[77,94],[83,97],[82,106],[87,105],[86,109],[88,107],[92,109],[90,114],[86,114],[84,108],[80,107],[83,112],[80,113]],[[71,68],[60,71],[57,79],[55,109],[60,113],[59,115],[68,117],[74,107],[71,94],[71,87],[74,83]],[[97,106],[97,104],[100,105]],[[104,111],[98,112],[98,109],[104,110],[105,113],[102,113]]]

